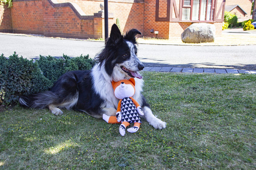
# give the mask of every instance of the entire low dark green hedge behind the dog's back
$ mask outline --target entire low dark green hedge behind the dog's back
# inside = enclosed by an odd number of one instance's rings
[[[0,104],[5,106],[17,103],[20,95],[42,92],[65,72],[71,70],[89,70],[94,61],[89,55],[70,58],[67,55],[57,59],[40,56],[34,62],[19,57],[16,52],[9,58],[0,56]]]

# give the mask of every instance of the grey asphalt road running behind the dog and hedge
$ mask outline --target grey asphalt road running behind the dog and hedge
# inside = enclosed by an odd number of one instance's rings
[[[104,42],[56,39],[0,34],[0,53],[28,59],[39,55],[60,57],[62,54],[91,58],[100,52]],[[146,67],[225,68],[256,70],[256,45],[247,46],[179,46],[139,44],[138,57]]]

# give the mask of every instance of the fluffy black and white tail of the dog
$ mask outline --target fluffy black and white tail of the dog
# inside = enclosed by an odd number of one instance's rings
[[[57,96],[53,92],[46,91],[29,96],[20,96],[19,102],[23,107],[43,109],[53,104],[56,100]]]

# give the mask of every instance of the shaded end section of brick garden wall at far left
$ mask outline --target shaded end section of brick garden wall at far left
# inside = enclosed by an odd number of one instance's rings
[[[11,8],[7,8],[6,5],[0,5],[0,32],[13,32]]]

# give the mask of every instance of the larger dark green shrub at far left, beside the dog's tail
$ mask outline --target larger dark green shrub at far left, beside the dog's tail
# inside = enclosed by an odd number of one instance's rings
[[[4,54],[0,56],[0,104],[10,105],[20,95],[44,91],[51,86],[33,60],[19,57],[15,52],[9,59]]]

